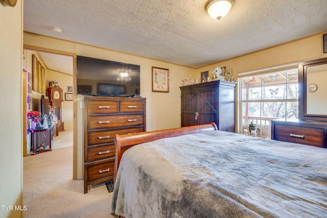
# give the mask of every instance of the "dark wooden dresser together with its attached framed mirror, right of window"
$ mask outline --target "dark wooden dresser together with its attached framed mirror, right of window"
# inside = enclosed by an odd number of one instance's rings
[[[298,119],[271,120],[271,139],[327,148],[327,58],[298,64]]]

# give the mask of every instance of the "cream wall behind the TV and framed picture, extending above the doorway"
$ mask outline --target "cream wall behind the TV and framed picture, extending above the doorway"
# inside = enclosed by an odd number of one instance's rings
[[[179,86],[181,86],[181,80],[190,75],[195,69],[30,33],[24,33],[24,44],[75,53],[80,56],[140,65],[141,95],[147,99],[147,131],[180,127]],[[152,92],[152,66],[169,69],[169,93]],[[83,109],[81,108],[81,102],[82,95],[76,96],[78,179],[83,178]]]

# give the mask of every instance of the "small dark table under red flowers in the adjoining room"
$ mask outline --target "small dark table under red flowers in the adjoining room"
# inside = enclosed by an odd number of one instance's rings
[[[51,130],[52,130],[52,126],[44,129],[29,129],[29,131],[32,133],[32,143],[33,143],[33,153],[31,153],[31,155],[52,151]]]

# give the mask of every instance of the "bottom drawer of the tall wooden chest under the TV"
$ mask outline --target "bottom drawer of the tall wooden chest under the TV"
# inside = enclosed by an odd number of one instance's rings
[[[113,176],[114,159],[99,164],[86,165],[87,182]]]

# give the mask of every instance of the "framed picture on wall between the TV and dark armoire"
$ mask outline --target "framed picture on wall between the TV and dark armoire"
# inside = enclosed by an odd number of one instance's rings
[[[169,92],[169,69],[152,67],[152,91]]]

